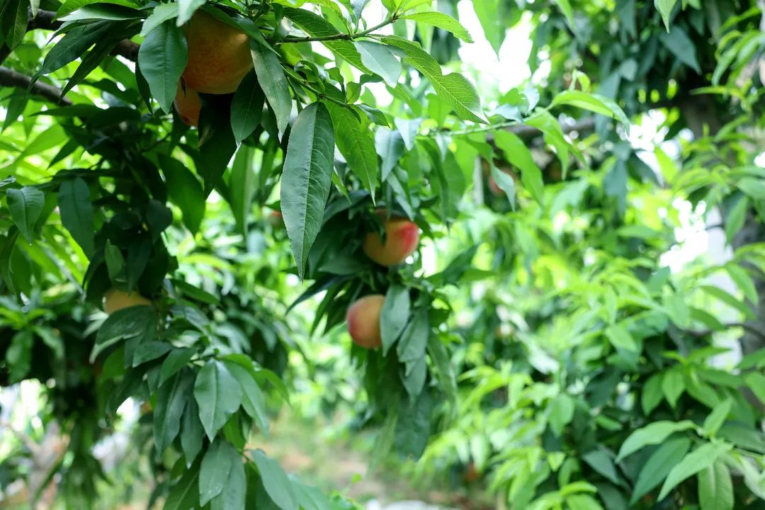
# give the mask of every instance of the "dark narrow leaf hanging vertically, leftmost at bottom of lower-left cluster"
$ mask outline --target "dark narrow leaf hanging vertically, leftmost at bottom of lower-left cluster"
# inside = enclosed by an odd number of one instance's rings
[[[161,456],[181,431],[181,417],[193,382],[194,378],[190,372],[182,372],[168,384],[162,385],[157,392],[157,404],[154,409],[154,443],[157,456]]]

